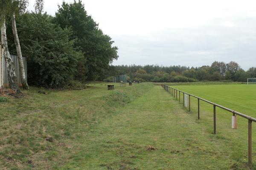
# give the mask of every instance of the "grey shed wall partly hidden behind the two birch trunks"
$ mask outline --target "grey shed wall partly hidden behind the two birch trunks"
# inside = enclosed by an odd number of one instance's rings
[[[0,87],[7,88],[9,87],[9,81],[8,81],[8,75],[7,75],[7,69],[6,69],[6,62],[3,59],[3,49],[0,43]],[[14,63],[15,68],[15,74],[17,75],[17,82],[18,85],[22,86],[20,81],[20,69],[19,69],[19,63],[18,63],[18,57],[15,54],[11,54],[12,62]],[[23,63],[24,63],[24,69],[25,69],[25,75],[27,79],[27,60],[26,57],[23,57]]]

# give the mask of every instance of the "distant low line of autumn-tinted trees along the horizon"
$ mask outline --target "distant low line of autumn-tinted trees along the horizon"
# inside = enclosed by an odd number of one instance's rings
[[[195,82],[195,81],[237,81],[256,78],[256,67],[244,71],[237,62],[218,62],[201,67],[180,65],[112,65],[105,74],[105,81],[111,82],[113,75],[127,74],[132,81],[141,82]]]

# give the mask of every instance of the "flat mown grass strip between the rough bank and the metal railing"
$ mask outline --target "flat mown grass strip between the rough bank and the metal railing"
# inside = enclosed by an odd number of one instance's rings
[[[87,133],[79,152],[59,169],[247,169],[245,160],[233,159],[229,140],[200,121],[155,85]],[[157,149],[146,150],[149,145]]]

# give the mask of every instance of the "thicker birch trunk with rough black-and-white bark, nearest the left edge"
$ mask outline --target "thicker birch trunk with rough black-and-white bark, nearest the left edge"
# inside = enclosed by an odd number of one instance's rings
[[[12,58],[11,58],[11,55],[10,55],[9,49],[8,49],[5,22],[3,23],[3,26],[1,27],[1,40],[2,40],[2,45],[3,45],[3,58],[6,61],[9,86],[13,91],[16,92],[16,94],[21,94],[20,87],[17,84],[17,76],[15,74],[14,64],[12,62]]]

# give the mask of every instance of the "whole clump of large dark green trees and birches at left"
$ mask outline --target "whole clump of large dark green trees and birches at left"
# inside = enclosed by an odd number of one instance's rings
[[[35,11],[26,10],[28,0],[0,2],[4,58],[7,65],[9,63],[8,79],[15,91],[20,92],[11,58],[6,57],[9,53],[17,54],[21,59],[22,55],[27,57],[28,82],[24,82],[23,87],[28,83],[65,88],[80,85],[79,82],[100,80],[113,60],[118,58],[114,41],[87,14],[81,0],[63,2],[55,16],[43,12],[44,0],[36,0]],[[19,65],[21,62],[19,59]]]

